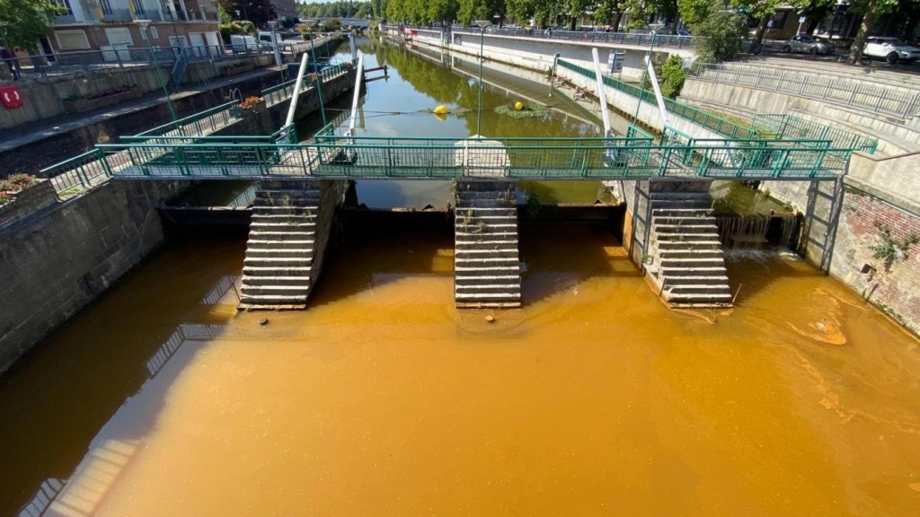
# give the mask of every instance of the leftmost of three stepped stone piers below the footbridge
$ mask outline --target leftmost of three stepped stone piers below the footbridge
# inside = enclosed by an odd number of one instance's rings
[[[240,309],[303,309],[313,284],[320,190],[257,190]]]

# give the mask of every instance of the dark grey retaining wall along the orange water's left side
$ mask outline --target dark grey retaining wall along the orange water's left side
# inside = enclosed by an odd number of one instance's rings
[[[181,188],[109,181],[0,230],[0,373],[163,244],[156,207]]]

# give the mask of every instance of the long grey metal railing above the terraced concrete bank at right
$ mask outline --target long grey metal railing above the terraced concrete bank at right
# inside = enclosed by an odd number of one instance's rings
[[[920,92],[873,85],[863,79],[740,64],[694,63],[688,67],[687,72],[705,81],[816,98],[870,113],[887,113],[902,119],[920,113]]]

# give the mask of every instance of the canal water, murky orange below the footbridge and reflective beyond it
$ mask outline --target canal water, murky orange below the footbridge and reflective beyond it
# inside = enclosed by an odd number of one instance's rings
[[[365,48],[368,133],[475,132],[420,111],[468,78]],[[596,134],[570,109],[483,132]],[[404,185],[359,197],[437,201]],[[916,513],[918,342],[789,253],[673,311],[612,233],[523,233],[523,308],[458,311],[450,236],[354,231],[308,310],[238,313],[245,247],[174,238],[0,378],[0,513],[64,481],[49,514]]]

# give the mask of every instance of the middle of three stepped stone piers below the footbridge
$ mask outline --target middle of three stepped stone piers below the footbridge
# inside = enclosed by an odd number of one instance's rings
[[[458,181],[454,211],[457,307],[520,307],[517,205],[511,181]]]

